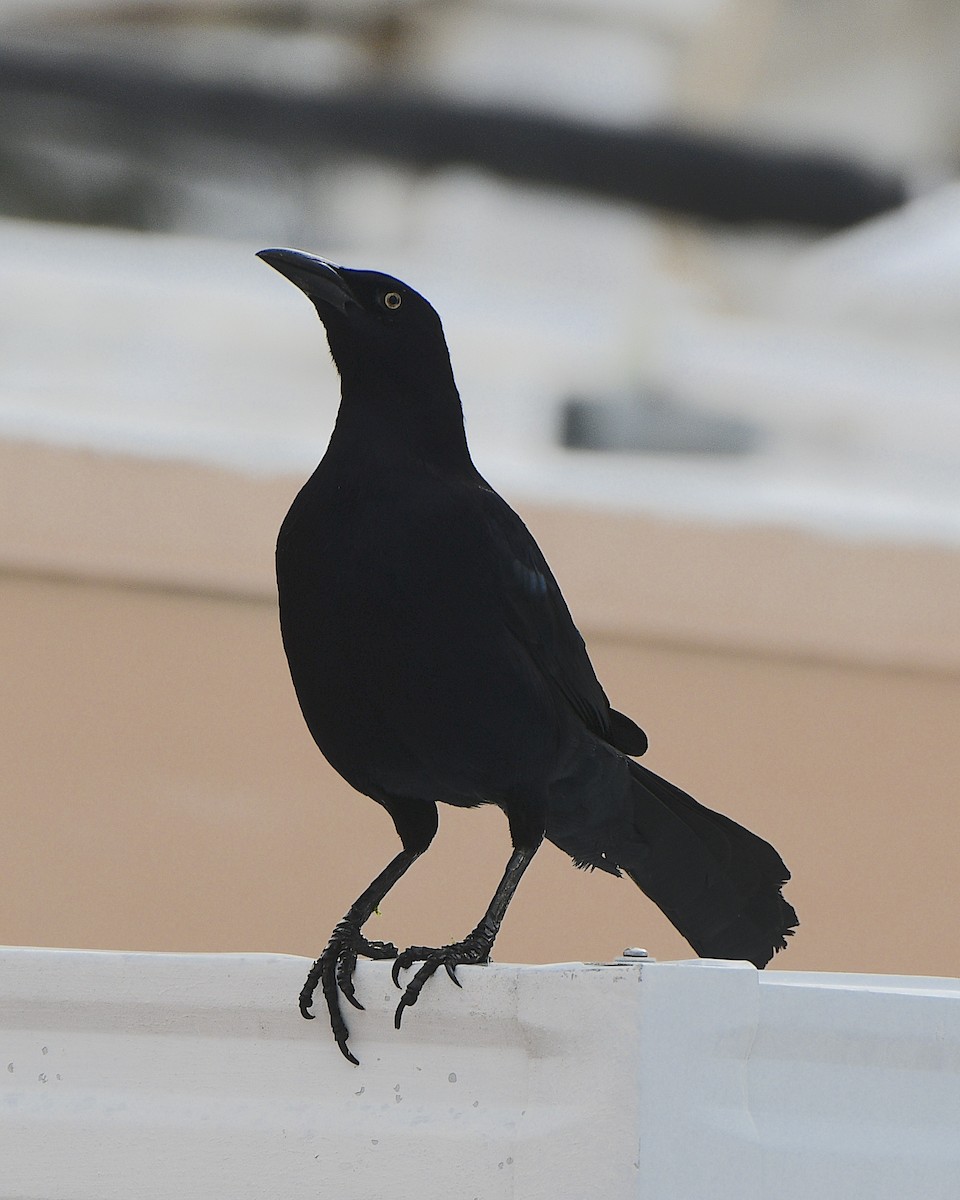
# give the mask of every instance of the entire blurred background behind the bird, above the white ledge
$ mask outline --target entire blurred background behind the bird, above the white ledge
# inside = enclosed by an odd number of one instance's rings
[[[337,380],[253,254],[444,318],[650,766],[772,840],[775,966],[960,960],[952,0],[0,0],[0,941],[313,956],[397,844],[272,548]],[[444,811],[373,937],[473,928]],[[545,847],[514,961],[689,956]]]

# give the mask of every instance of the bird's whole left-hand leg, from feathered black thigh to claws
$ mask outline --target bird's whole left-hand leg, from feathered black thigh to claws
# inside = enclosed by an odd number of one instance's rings
[[[432,802],[382,803],[394,818],[394,824],[403,842],[403,850],[356,898],[343,919],[337,923],[323,954],[310,968],[300,991],[300,1012],[307,1020],[312,1020],[313,1013],[310,1012],[310,1008],[313,1003],[317,984],[320,984],[336,1044],[343,1057],[354,1066],[359,1066],[359,1063],[347,1046],[349,1030],[340,1008],[340,994],[342,992],[354,1008],[362,1009],[364,1006],[356,998],[353,985],[353,972],[358,956],[362,955],[367,959],[395,959],[397,956],[397,948],[391,942],[370,942],[360,930],[390,888],[424,853],[437,832],[437,805]]]

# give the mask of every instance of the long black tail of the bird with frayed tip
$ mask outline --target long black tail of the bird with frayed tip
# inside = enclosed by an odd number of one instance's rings
[[[594,792],[586,824],[571,822],[568,810],[547,836],[581,866],[623,870],[701,958],[764,967],[798,924],[780,890],[790,880],[784,860],[769,842],[648,768],[626,758],[618,766],[605,763],[607,787],[602,798]],[[611,775],[619,776],[616,800]]]

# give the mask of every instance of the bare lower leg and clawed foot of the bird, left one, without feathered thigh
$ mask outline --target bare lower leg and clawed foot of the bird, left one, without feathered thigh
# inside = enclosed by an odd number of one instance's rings
[[[313,1003],[313,992],[317,990],[317,984],[320,984],[324,1000],[326,1001],[326,1010],[330,1014],[330,1026],[334,1031],[334,1038],[340,1046],[340,1052],[344,1058],[354,1063],[354,1066],[358,1066],[358,1060],[347,1048],[349,1030],[340,1010],[340,994],[343,992],[354,1008],[362,1009],[364,1006],[356,998],[353,985],[353,971],[356,966],[358,955],[362,955],[366,959],[395,959],[397,956],[396,946],[390,942],[370,942],[360,932],[360,929],[390,888],[419,857],[420,851],[402,850],[380,871],[366,892],[350,905],[346,917],[334,930],[323,954],[310,968],[306,983],[300,992],[300,1012],[307,1020],[313,1020],[313,1013],[310,1012],[310,1007]]]

